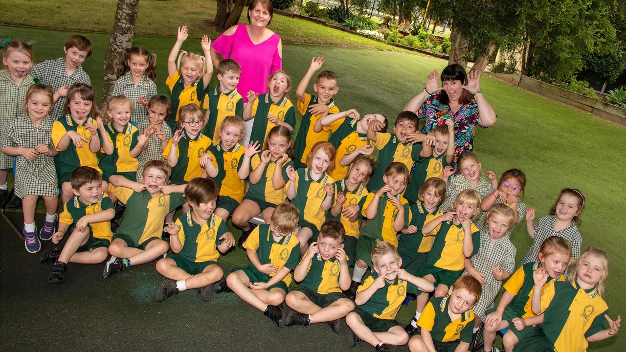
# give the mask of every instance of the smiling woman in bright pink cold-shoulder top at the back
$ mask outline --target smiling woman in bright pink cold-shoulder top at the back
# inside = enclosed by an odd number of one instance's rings
[[[211,60],[217,68],[218,54],[232,59],[241,66],[239,91],[247,103],[248,91],[267,93],[267,79],[274,71],[282,70],[282,42],[278,34],[267,25],[272,21],[274,7],[270,0],[254,0],[248,7],[250,24],[228,28],[211,44]],[[249,140],[253,120],[246,122],[245,143]]]

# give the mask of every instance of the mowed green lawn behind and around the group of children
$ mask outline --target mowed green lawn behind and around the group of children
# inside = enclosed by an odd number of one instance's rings
[[[34,54],[38,62],[61,56],[66,37],[74,33],[0,26],[1,37],[36,40]],[[94,54],[84,66],[99,95],[108,36],[85,35],[93,41]],[[197,51],[200,49],[198,41],[188,39],[183,48]],[[160,93],[168,94],[165,61],[173,39],[137,36],[134,44],[146,46],[157,54],[158,89]],[[284,68],[292,75],[293,89],[307,70],[312,56],[324,56],[324,69],[333,70],[339,76],[336,103],[340,109],[356,108],[362,114],[384,113],[392,123],[406,101],[424,87],[428,71],[433,68],[440,71],[446,66],[446,61],[414,54],[285,45]],[[547,214],[562,188],[581,189],[587,195],[583,224],[579,227],[583,249],[596,246],[608,252],[611,271],[605,299],[613,318],[626,312],[626,303],[619,298],[626,289],[620,275],[626,268],[626,246],[619,225],[626,210],[626,157],[623,155],[626,128],[490,76],[483,76],[481,89],[499,116],[494,127],[478,130],[476,135],[475,152],[481,159],[483,171],[493,170],[500,175],[508,168],[523,170],[528,178],[524,201],[536,209],[537,219]],[[292,100],[295,103],[293,95]],[[518,248],[519,260],[531,243],[524,223],[513,232],[512,241]],[[220,261],[239,266],[246,259],[242,251],[235,251]],[[398,318],[406,322],[410,316],[411,309],[403,308]],[[623,341],[624,338],[618,336],[593,343],[592,348],[618,351]]]

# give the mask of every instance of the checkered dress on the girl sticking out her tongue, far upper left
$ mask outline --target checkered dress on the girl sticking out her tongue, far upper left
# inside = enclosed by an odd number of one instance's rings
[[[9,72],[0,73],[0,140],[3,138],[9,122],[24,113],[24,100],[28,88],[35,84],[33,76],[26,75],[19,86],[15,84]],[[13,157],[0,153],[0,168],[13,168]]]

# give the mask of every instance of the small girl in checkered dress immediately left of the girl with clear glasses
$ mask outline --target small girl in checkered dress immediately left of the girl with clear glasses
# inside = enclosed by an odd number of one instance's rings
[[[150,160],[161,160],[167,162],[163,157],[163,150],[167,148],[167,143],[172,138],[172,128],[163,121],[170,116],[170,100],[165,95],[155,95],[148,100],[148,118],[143,118],[137,130],[139,133],[146,133],[148,143],[137,157],[136,180],[143,182],[143,165]]]

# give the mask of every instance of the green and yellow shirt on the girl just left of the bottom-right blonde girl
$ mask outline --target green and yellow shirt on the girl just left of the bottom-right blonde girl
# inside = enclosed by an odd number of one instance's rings
[[[526,263],[517,269],[511,277],[503,285],[504,289],[515,296],[506,309],[511,309],[521,318],[531,318],[536,314],[530,306],[530,299],[535,291],[535,281],[533,281],[533,272],[538,269],[540,262]],[[565,276],[548,277],[548,281],[543,285],[542,290],[548,287],[553,281],[565,281]]]

